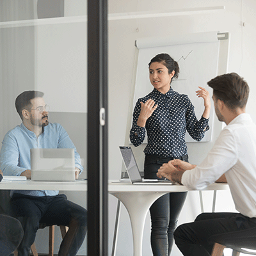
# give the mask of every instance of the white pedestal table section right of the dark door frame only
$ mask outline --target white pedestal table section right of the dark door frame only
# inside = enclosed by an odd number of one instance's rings
[[[112,180],[113,181],[113,180]],[[108,191],[116,196],[127,209],[132,226],[134,256],[142,255],[142,239],[145,219],[150,206],[166,193],[188,191],[186,186],[179,184],[131,184],[124,182],[109,182]],[[228,184],[214,183],[204,190],[228,189]]]

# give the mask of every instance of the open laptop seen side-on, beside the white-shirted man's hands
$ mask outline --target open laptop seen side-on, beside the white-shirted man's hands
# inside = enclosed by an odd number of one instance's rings
[[[131,147],[119,147],[123,160],[124,165],[127,170],[127,173],[129,175],[129,179],[131,180],[132,184],[168,184],[173,185],[176,184],[175,182],[172,182],[171,180],[150,180],[150,179],[142,179],[140,175],[140,170],[138,168],[138,165],[136,163],[134,154],[132,152]]]

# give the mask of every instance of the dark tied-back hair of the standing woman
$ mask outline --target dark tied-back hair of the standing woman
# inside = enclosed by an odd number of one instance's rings
[[[179,77],[179,64],[177,63],[177,61],[173,60],[173,58],[168,53],[157,54],[154,58],[152,58],[152,60],[150,60],[150,63],[148,63],[148,67],[150,67],[150,65],[154,62],[162,63],[166,68],[168,68],[169,74],[171,74],[174,70],[175,74],[173,77]]]

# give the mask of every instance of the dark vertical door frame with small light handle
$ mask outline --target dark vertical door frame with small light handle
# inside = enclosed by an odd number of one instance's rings
[[[100,114],[101,113],[101,114]],[[101,120],[101,122],[100,122]],[[103,124],[105,122],[105,124]],[[108,1],[88,0],[88,256],[108,255]]]

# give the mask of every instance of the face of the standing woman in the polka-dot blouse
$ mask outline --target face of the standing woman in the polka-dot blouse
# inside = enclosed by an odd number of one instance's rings
[[[171,74],[169,74],[168,68],[159,62],[153,62],[149,67],[150,83],[154,86],[154,88],[156,88],[157,91],[163,94],[170,90],[170,83],[174,74],[174,70]]]

